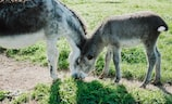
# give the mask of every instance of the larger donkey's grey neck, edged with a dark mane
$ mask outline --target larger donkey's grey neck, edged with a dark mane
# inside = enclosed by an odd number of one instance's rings
[[[86,42],[86,26],[84,25],[82,18],[66,5],[57,1],[58,5],[56,6],[56,12],[58,14],[58,20],[61,17],[60,21],[65,20],[67,26],[64,26],[65,31],[70,35],[67,37],[72,39],[75,44],[81,49],[82,46]],[[61,14],[64,14],[61,16]],[[62,28],[62,29],[64,29]]]

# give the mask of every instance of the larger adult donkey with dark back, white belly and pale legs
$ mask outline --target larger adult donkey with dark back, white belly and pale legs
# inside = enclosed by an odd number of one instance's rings
[[[66,37],[72,47],[70,69],[75,75],[75,61],[81,54],[85,35],[86,28],[81,18],[58,0],[0,2],[0,47],[20,49],[45,39],[50,75],[54,80],[58,78],[58,38]]]

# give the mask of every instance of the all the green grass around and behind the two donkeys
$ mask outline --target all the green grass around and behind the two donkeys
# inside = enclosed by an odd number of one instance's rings
[[[162,55],[161,74],[163,83],[172,83],[172,0],[61,0],[70,9],[79,14],[87,23],[90,34],[106,17],[133,13],[137,11],[153,11],[168,23],[169,31],[162,32],[158,48]],[[70,52],[65,39],[57,43],[60,50],[59,69],[69,69],[67,55]],[[95,73],[99,75],[103,67],[106,50],[100,54]],[[47,66],[45,42],[22,49],[8,50],[7,54],[16,60],[29,60]],[[147,62],[142,46],[122,51],[123,78],[143,81],[147,72]],[[114,77],[114,66],[111,63],[110,76]],[[153,76],[153,75],[152,75]],[[0,92],[0,101],[4,98]],[[124,84],[113,84],[112,81],[74,81],[71,78],[58,80],[53,84],[38,84],[34,91],[14,100],[14,104],[35,100],[40,104],[172,104],[172,95],[161,90],[128,88]]]

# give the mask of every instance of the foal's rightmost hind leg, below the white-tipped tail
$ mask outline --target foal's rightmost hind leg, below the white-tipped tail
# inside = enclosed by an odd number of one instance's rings
[[[161,54],[156,48],[156,55],[157,55],[157,63],[156,63],[156,78],[155,81],[152,82],[155,86],[161,86]]]

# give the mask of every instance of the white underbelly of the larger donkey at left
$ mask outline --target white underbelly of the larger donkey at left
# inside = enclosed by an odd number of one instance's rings
[[[24,34],[24,35],[12,35],[1,36],[0,47],[7,49],[21,49],[34,44],[40,39],[45,38],[44,30],[37,32]]]

